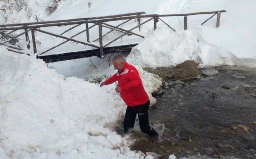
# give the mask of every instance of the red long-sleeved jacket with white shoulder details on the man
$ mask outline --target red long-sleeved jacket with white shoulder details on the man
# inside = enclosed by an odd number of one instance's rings
[[[109,85],[116,81],[121,87],[120,95],[126,105],[134,107],[148,102],[148,95],[142,85],[139,72],[134,66],[125,62],[122,72],[117,72],[108,78],[105,84]]]

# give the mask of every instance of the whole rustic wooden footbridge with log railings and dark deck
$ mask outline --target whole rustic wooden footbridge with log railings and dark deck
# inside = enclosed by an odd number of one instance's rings
[[[151,20],[154,21],[153,30],[156,30],[157,23],[161,21],[175,32],[174,28],[172,28],[169,24],[163,21],[163,19],[161,19],[162,17],[184,16],[184,30],[187,30],[187,16],[198,15],[198,14],[213,14],[211,17],[209,17],[207,20],[205,20],[201,24],[203,25],[205,22],[207,22],[209,19],[213,18],[213,16],[217,14],[216,27],[219,27],[221,12],[226,12],[226,11],[218,10],[213,12],[196,12],[196,13],[188,13],[188,14],[163,14],[163,15],[145,14],[145,12],[136,12],[136,13],[129,13],[129,14],[118,14],[114,16],[100,16],[100,17],[91,17],[91,18],[77,18],[77,19],[69,19],[69,20],[55,20],[55,21],[30,22],[30,23],[19,23],[19,24],[4,24],[4,25],[0,25],[0,32],[2,31],[2,36],[0,37],[0,40],[1,40],[0,45],[5,45],[6,48],[12,52],[18,52],[20,54],[24,54],[24,53],[28,54],[26,51],[30,49],[30,38],[28,36],[28,32],[30,32],[31,38],[32,38],[32,44],[33,44],[33,52],[37,54],[37,58],[43,59],[46,63],[62,61],[62,60],[71,60],[76,58],[91,57],[91,56],[98,56],[102,58],[104,57],[105,54],[110,54],[115,52],[129,52],[132,49],[132,47],[136,46],[137,44],[128,44],[128,45],[125,44],[125,45],[112,46],[112,47],[107,47],[107,46],[109,46],[110,44],[112,44],[113,42],[122,38],[125,35],[129,35],[129,36],[133,35],[133,36],[138,36],[140,38],[144,38],[144,36],[132,31],[136,28],[138,28],[138,30],[140,31],[141,26],[143,24],[150,22]],[[146,20],[142,22],[141,20],[142,18],[145,18]],[[130,28],[129,30],[121,28],[123,24],[129,22],[132,19],[137,20],[138,25],[134,26],[133,28]],[[122,22],[117,26],[113,26],[107,23],[107,22],[113,22],[113,21],[122,21]],[[77,34],[74,34],[71,37],[63,36],[63,34],[83,24],[85,24],[84,30],[78,32]],[[89,26],[89,24],[92,24],[92,25]],[[72,27],[65,30],[61,34],[43,30],[43,28],[45,27],[53,27],[53,26],[58,26],[58,27],[72,26]],[[90,40],[89,30],[94,26],[98,26],[99,37],[97,39]],[[110,29],[110,31],[103,35],[102,34],[103,27]],[[6,39],[6,37],[8,37],[10,34],[13,34],[18,30],[24,30],[24,31],[21,32],[20,34],[17,34],[16,36],[13,36],[12,38],[9,38],[8,40]],[[113,31],[122,32],[123,34],[111,40],[107,44],[103,44],[102,38]],[[52,46],[47,50],[40,50],[40,52],[38,52],[35,32],[41,32],[41,33],[49,34],[51,36],[55,36],[58,38],[63,38],[65,39],[65,41],[61,42],[60,44],[57,44],[56,46]],[[75,36],[83,32],[86,32],[86,41],[80,41],[80,40],[74,39]],[[26,38],[26,42],[27,42],[26,50],[24,48],[19,48],[14,45],[6,44],[7,42],[10,42],[11,40],[16,39],[22,35],[25,35],[25,38]],[[87,50],[84,49],[82,51],[77,51],[77,52],[65,52],[65,53],[59,53],[59,54],[43,55],[46,52],[49,52],[50,50],[53,50],[54,48],[57,48],[69,41],[83,44],[85,46],[91,46],[92,49],[87,49]]]

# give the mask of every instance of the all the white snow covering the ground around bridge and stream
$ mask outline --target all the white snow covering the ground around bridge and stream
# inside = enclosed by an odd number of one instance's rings
[[[136,31],[145,35],[144,39],[131,36],[127,40],[140,42],[128,56],[128,62],[138,68],[148,95],[159,87],[161,81],[145,72],[142,69],[144,66],[170,66],[193,59],[200,62],[200,66],[256,67],[256,20],[251,18],[255,16],[255,0],[163,0],[161,3],[155,0],[128,0],[122,3],[120,0],[91,0],[90,12],[87,2],[63,1],[53,14],[47,16],[45,6],[50,0],[29,0],[32,16],[28,18],[26,10],[14,11],[9,13],[8,23],[35,22],[35,15],[41,20],[59,20],[141,11],[147,14],[175,14],[225,9],[227,12],[221,14],[219,28],[215,28],[216,18],[200,25],[210,15],[189,16],[187,31],[183,31],[183,17],[163,18],[177,32],[161,22],[157,25],[158,29],[152,32],[153,23],[146,24],[141,32]],[[3,3],[0,1],[0,4]],[[124,28],[133,25],[136,22],[126,24]],[[65,29],[46,30],[60,33]],[[97,28],[95,30],[90,32],[91,38],[97,36]],[[108,38],[117,35],[119,33],[113,33]],[[77,38],[85,36],[82,34]],[[42,42],[39,50],[62,42],[56,38],[49,40],[49,37],[39,33],[37,40]],[[24,41],[20,39],[19,45],[25,46]],[[35,55],[15,54],[0,46],[0,158],[145,157],[140,152],[130,151],[128,145],[132,141],[129,135],[122,138],[113,131],[116,121],[125,111],[124,102],[114,91],[115,84],[100,88],[98,84],[88,82],[94,78],[107,78],[115,72],[112,66],[109,67],[108,58],[55,62],[48,64],[48,67],[57,71],[47,68],[42,60],[36,60]]]

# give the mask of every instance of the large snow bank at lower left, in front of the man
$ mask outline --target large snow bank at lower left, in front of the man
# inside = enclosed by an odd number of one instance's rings
[[[0,68],[0,157],[142,157],[109,128],[125,108],[114,89],[65,78],[43,61],[2,46]]]

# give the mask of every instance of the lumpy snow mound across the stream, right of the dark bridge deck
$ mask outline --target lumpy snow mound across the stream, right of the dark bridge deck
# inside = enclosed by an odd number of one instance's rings
[[[144,67],[171,66],[195,60],[201,66],[240,65],[256,67],[253,58],[237,58],[218,46],[206,42],[200,28],[155,30],[132,49],[128,61]]]

